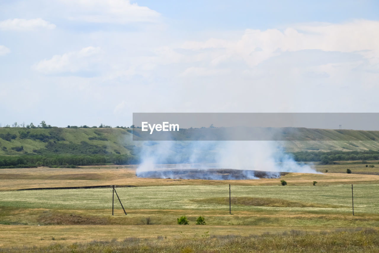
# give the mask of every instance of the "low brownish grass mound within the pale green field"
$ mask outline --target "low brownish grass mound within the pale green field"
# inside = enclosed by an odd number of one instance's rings
[[[229,198],[205,198],[195,199],[195,202],[206,204],[229,204]],[[243,206],[268,206],[268,207],[319,207],[319,208],[338,208],[340,206],[330,204],[316,204],[300,201],[291,201],[274,198],[252,198],[252,197],[232,197],[230,202],[233,205]]]

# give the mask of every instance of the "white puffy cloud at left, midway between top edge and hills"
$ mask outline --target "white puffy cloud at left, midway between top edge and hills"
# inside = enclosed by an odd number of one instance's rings
[[[90,46],[80,51],[54,55],[51,59],[44,59],[34,64],[32,68],[43,74],[80,74],[81,72],[95,71],[100,57],[100,47]]]

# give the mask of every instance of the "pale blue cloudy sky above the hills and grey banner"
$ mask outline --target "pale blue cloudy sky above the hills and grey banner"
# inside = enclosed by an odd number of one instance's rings
[[[0,124],[378,112],[378,10],[374,0],[2,0]]]

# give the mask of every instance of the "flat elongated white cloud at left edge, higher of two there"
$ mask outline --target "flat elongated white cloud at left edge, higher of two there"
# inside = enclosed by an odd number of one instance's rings
[[[54,29],[55,25],[41,18],[38,19],[7,19],[0,22],[0,30],[37,30]]]

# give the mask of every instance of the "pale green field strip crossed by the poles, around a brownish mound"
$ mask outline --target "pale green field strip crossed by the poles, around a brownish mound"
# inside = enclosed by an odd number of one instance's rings
[[[351,185],[316,186],[239,186],[232,185],[233,197],[276,198],[289,201],[330,204],[338,208],[289,207],[288,211],[338,212],[351,211]],[[379,185],[356,185],[357,213],[379,213]],[[229,203],[207,203],[207,199],[229,197],[229,185],[183,185],[117,188],[127,209],[229,209]],[[46,209],[108,209],[110,188],[69,190],[0,191],[2,207]],[[205,201],[199,202],[197,200]],[[227,205],[226,205],[227,204]],[[234,205],[236,211],[280,211],[285,207]]]

